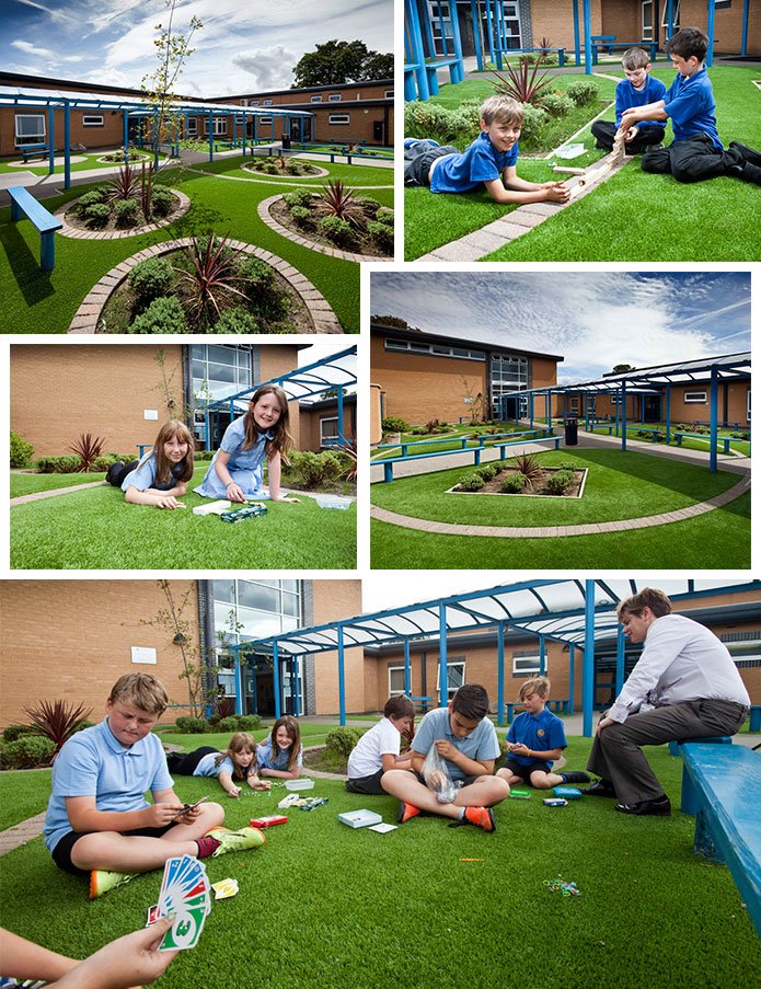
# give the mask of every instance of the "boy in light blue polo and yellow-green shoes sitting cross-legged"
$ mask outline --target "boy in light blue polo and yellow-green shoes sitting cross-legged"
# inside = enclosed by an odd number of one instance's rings
[[[255,828],[221,828],[219,804],[183,813],[151,734],[168,703],[154,677],[127,674],[111,690],[105,720],[69,738],[56,758],[45,843],[59,869],[90,875],[91,897],[173,856],[205,859],[264,843]],[[145,798],[149,790],[153,804]]]

